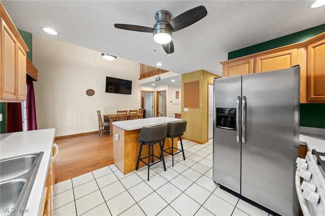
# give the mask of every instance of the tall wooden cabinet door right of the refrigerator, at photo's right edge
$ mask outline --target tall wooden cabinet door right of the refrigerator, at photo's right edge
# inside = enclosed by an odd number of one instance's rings
[[[325,39],[307,50],[307,100],[325,102]]]

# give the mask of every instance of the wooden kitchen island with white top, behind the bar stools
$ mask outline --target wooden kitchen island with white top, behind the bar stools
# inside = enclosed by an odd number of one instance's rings
[[[125,175],[136,170],[140,142],[137,139],[140,137],[142,127],[152,127],[167,124],[169,122],[180,122],[182,119],[170,117],[155,117],[146,119],[135,119],[127,121],[113,122],[113,157],[114,164]],[[166,138],[165,147],[171,147],[171,138]],[[174,141],[174,146],[177,147],[177,141]],[[165,149],[166,149],[165,148]],[[155,155],[160,154],[157,145],[154,146]],[[148,147],[144,146],[141,157],[148,155]],[[164,155],[167,155],[165,153]],[[144,166],[140,162],[139,167]]]

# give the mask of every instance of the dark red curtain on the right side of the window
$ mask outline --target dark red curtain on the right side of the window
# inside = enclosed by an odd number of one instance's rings
[[[35,95],[34,95],[34,81],[28,74],[26,76],[27,93],[26,93],[26,119],[27,130],[37,130],[36,123],[36,107],[35,107]]]

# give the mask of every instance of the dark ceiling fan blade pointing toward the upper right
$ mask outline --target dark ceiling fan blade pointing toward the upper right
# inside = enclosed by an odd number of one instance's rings
[[[169,21],[169,23],[167,23],[167,26],[170,27],[172,31],[178,31],[193,23],[198,22],[207,14],[208,14],[207,10],[205,9],[204,6],[201,5],[178,15],[177,17]]]

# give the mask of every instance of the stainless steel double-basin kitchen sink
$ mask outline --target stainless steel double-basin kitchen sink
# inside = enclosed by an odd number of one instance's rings
[[[0,160],[0,215],[23,215],[43,154]]]

